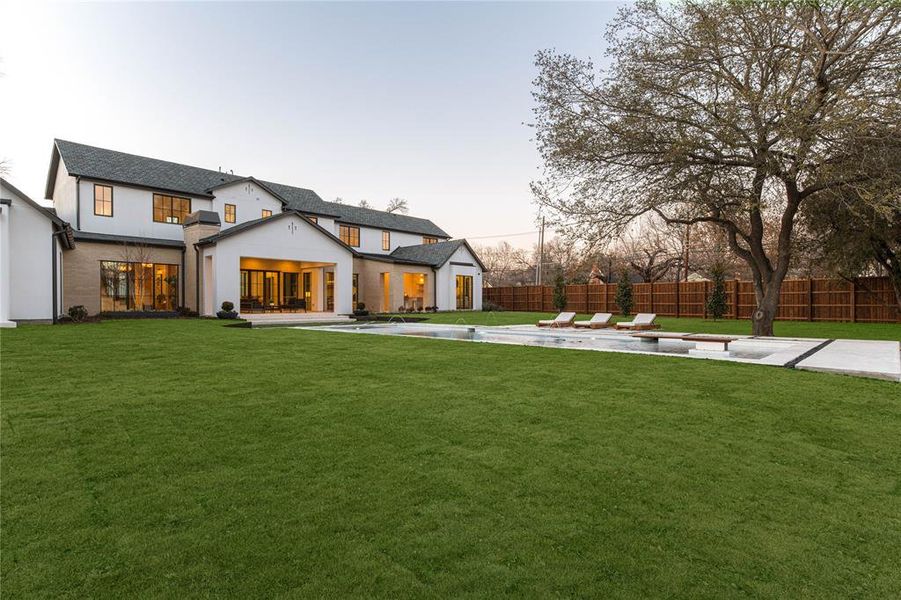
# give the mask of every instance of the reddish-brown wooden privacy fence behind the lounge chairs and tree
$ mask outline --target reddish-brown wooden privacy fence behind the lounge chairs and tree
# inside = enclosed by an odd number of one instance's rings
[[[659,281],[632,284],[632,312],[653,312],[666,317],[707,318],[709,281]],[[618,312],[616,284],[566,286],[566,310],[580,313]],[[726,282],[725,316],[750,319],[757,305],[750,281]],[[484,302],[505,310],[547,312],[554,309],[554,289],[526,285],[482,290]],[[901,321],[895,292],[888,277],[843,279],[786,279],[779,296],[777,319],[788,321]]]

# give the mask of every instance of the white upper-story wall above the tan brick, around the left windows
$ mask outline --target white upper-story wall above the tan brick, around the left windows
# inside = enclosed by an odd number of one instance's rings
[[[94,185],[109,185],[113,188],[113,216],[102,217],[94,214]],[[144,188],[104,183],[82,179],[81,190],[81,231],[109,233],[163,240],[183,239],[181,223],[157,223],[153,220],[153,194],[168,194],[189,198],[191,211],[212,210],[213,201],[208,198],[192,197],[188,194],[154,192]],[[54,194],[54,197],[56,194]],[[70,221],[75,227],[76,223]]]

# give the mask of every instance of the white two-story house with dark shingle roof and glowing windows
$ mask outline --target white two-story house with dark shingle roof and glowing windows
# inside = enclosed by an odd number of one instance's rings
[[[62,311],[481,308],[479,258],[428,219],[64,140],[46,197],[74,237]]]

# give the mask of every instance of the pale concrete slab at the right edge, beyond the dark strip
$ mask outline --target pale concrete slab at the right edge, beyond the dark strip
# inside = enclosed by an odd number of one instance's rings
[[[901,381],[901,343],[835,340],[796,364],[795,368]]]

